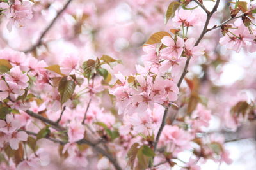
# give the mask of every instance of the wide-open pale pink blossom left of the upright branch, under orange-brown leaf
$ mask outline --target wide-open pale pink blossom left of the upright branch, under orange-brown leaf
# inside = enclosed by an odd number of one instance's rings
[[[170,36],[164,36],[161,42],[167,46],[160,50],[162,59],[176,61],[180,58],[184,46],[184,40],[182,38],[177,37],[177,41],[175,42]]]

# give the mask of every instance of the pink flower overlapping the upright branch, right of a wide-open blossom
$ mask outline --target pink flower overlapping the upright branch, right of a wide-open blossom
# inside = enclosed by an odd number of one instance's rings
[[[187,57],[197,57],[204,55],[204,47],[194,46],[195,38],[189,38],[185,42],[185,55]]]

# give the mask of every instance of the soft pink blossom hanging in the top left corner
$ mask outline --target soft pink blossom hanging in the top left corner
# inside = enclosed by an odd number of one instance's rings
[[[31,3],[29,1],[19,1],[15,0],[14,3],[10,6],[7,17],[10,18],[10,21],[7,24],[9,31],[12,31],[12,26],[15,27],[24,27],[27,20],[30,20],[33,17],[31,10]]]

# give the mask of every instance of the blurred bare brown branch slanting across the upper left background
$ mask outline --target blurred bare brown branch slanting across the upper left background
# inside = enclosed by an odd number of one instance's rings
[[[42,39],[44,38],[45,34],[47,34],[47,32],[51,29],[52,25],[54,25],[54,23],[56,22],[58,17],[60,17],[61,13],[63,13],[63,11],[65,11],[67,9],[68,4],[70,4],[71,1],[72,0],[67,1],[67,3],[63,6],[63,8],[60,11],[58,11],[56,17],[53,18],[52,22],[45,28],[44,32],[42,32],[41,36],[38,38],[35,45],[33,45],[30,48],[28,48],[27,50],[25,50],[24,53],[29,53],[29,52],[35,50],[37,46],[42,45]]]

